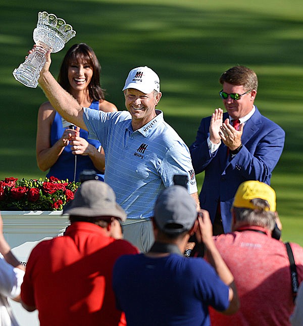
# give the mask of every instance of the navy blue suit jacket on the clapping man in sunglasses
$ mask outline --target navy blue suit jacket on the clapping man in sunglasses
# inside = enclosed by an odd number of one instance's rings
[[[229,118],[223,114],[223,121]],[[234,195],[239,184],[246,180],[259,180],[270,184],[272,171],[282,154],[284,130],[273,121],[255,113],[245,122],[241,137],[243,148],[233,157],[221,142],[219,149],[211,154],[207,139],[210,135],[211,117],[201,120],[195,142],[190,146],[192,165],[196,174],[205,171],[199,194],[200,207],[210,213],[214,221],[220,201],[224,232],[231,230],[231,212]]]

